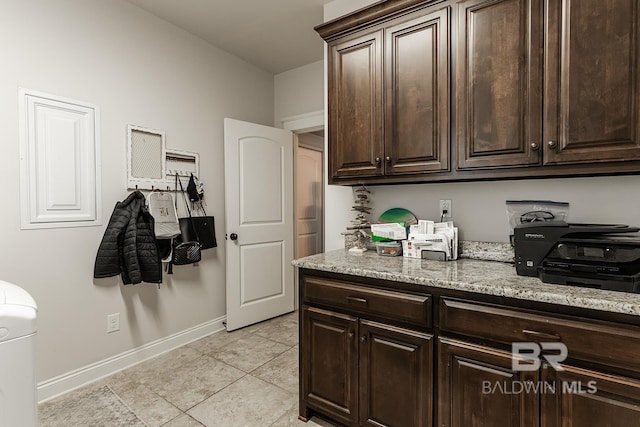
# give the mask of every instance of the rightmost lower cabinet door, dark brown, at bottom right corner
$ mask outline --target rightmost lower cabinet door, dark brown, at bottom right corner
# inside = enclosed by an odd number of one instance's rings
[[[638,425],[640,381],[562,365],[563,371],[543,369],[555,393],[542,400],[543,427]]]

